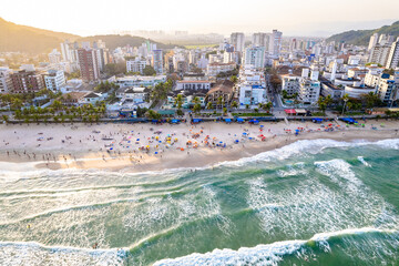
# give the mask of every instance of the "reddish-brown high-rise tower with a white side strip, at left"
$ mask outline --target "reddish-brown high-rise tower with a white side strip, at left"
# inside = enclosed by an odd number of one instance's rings
[[[78,58],[83,81],[99,80],[100,70],[96,51],[93,49],[79,49]]]

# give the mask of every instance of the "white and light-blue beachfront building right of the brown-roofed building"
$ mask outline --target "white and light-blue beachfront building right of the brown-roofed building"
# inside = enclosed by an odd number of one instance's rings
[[[266,80],[262,69],[245,65],[239,71],[237,84],[239,105],[257,108],[259,103],[267,102]]]

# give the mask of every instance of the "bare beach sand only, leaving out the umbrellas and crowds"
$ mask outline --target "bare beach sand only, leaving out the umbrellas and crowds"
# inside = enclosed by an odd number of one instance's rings
[[[62,141],[62,144],[49,144],[47,146],[39,145],[35,143],[40,143],[38,141],[39,137],[43,137],[41,135],[48,135],[49,132],[57,132],[60,131],[65,133],[65,127],[71,127],[70,125],[57,125],[51,126],[51,129],[47,127],[40,127],[40,126],[21,126],[21,125],[8,125],[0,127],[0,140],[3,137],[3,144],[7,143],[6,135],[8,133],[12,133],[12,131],[18,132],[14,134],[21,134],[25,135],[25,141],[29,142],[27,145],[27,142],[23,142],[25,145],[24,147],[18,147],[18,142],[13,143],[11,140],[9,143],[4,146],[1,145],[1,152],[0,152],[0,162],[4,163],[32,163],[35,164],[35,168],[49,168],[49,170],[61,170],[61,168],[82,168],[82,170],[89,170],[89,168],[96,168],[96,170],[108,170],[108,171],[123,171],[129,173],[139,173],[139,172],[149,172],[149,171],[164,171],[170,168],[181,168],[181,167],[204,167],[204,166],[213,166],[222,162],[229,162],[229,161],[237,161],[244,157],[250,157],[254,155],[257,155],[259,153],[264,153],[267,151],[272,151],[275,149],[279,149],[286,145],[289,145],[296,141],[300,140],[334,140],[334,141],[345,141],[345,142],[352,142],[357,140],[364,140],[364,141],[380,141],[380,140],[387,140],[387,139],[398,139],[398,129],[399,123],[396,121],[386,122],[387,125],[385,125],[383,129],[378,130],[369,130],[368,127],[345,127],[345,124],[340,123],[341,130],[336,130],[334,132],[325,132],[320,131],[318,124],[309,124],[309,123],[290,123],[290,125],[286,125],[284,122],[278,123],[262,123],[264,125],[264,131],[262,132],[267,135],[267,139],[265,142],[259,141],[259,137],[256,137],[254,135],[258,134],[256,133],[259,129],[259,125],[226,125],[226,124],[218,124],[218,123],[212,123],[212,124],[204,124],[204,125],[185,125],[181,124],[178,126],[167,126],[167,125],[139,125],[139,126],[115,126],[115,125],[106,125],[106,124],[100,124],[100,125],[86,125],[81,126],[79,133],[75,132],[68,132],[65,137],[71,137],[70,140],[75,140],[78,136],[82,137],[88,136],[89,141],[91,137],[93,137],[93,143],[72,143],[70,145],[65,145],[65,141]],[[299,133],[299,135],[294,135],[293,133],[287,134],[286,129],[287,127],[298,127],[299,126],[306,126],[307,131],[313,132],[304,132]],[[116,140],[122,139],[122,141],[119,143],[120,146],[115,146],[113,144],[114,151],[110,151],[106,149],[103,149],[102,146],[106,146],[108,141],[99,141],[99,137],[93,136],[93,129],[100,129],[101,131],[104,131],[103,127],[106,127],[108,130],[111,127],[116,127],[117,130],[126,130],[122,127],[129,127],[132,133],[129,134],[135,134],[134,137],[149,139],[147,142],[151,142],[151,145],[154,145],[154,150],[151,146],[151,152],[141,152],[136,149],[133,149],[133,144],[129,144],[131,146],[124,146],[127,144],[121,144],[127,143],[126,141],[126,133],[117,133],[117,137],[115,135],[115,142]],[[168,127],[167,130],[164,130]],[[244,127],[243,127],[244,126]],[[372,124],[371,124],[372,126]],[[50,127],[50,126],[49,126]],[[119,129],[121,127],[121,129]],[[140,129],[142,127],[142,129]],[[145,129],[144,129],[145,127]],[[9,132],[4,132],[4,129],[7,129]],[[72,129],[72,127],[71,127]],[[165,149],[165,147],[157,147],[155,150],[155,144],[152,143],[153,141],[153,132],[163,129],[164,134],[167,134],[167,132],[174,132],[172,133],[173,137],[183,139],[186,136],[186,140],[198,140],[198,139],[191,139],[188,135],[185,134],[186,131],[194,132],[194,131],[204,131],[204,133],[201,133],[201,139],[212,133],[212,135],[215,135],[215,139],[223,140],[226,144],[226,147],[214,147],[214,146],[204,146],[202,143],[198,144],[197,149],[190,147],[185,149],[184,151],[176,150],[174,147]],[[246,132],[248,132],[248,135],[252,134],[254,139],[252,141],[244,139],[243,136],[238,135],[238,131],[243,131],[245,129]],[[337,127],[336,125],[336,129]],[[228,131],[228,134],[226,134],[226,130]],[[318,131],[319,130],[319,131]],[[47,131],[47,132],[39,132],[37,131]],[[123,131],[125,132],[125,131]],[[134,132],[134,133],[133,133]],[[291,131],[293,132],[293,131]],[[32,135],[28,135],[28,133],[33,133]],[[35,133],[35,134],[34,134]],[[142,134],[143,133],[143,134]],[[235,134],[234,134],[235,133]],[[39,135],[40,134],[40,135]],[[112,132],[110,134],[113,135]],[[175,135],[173,135],[175,134]],[[234,134],[234,136],[233,136]],[[71,136],[68,136],[71,135]],[[151,137],[149,137],[151,135]],[[160,134],[160,139],[161,139]],[[223,135],[223,136],[221,136]],[[33,136],[33,139],[32,139]],[[63,139],[65,139],[63,137]],[[223,137],[223,139],[222,139]],[[44,137],[45,139],[45,137]],[[238,144],[234,144],[234,140],[239,139]],[[18,139],[20,140],[20,139]],[[23,140],[23,139],[22,139]],[[34,143],[34,140],[37,141]],[[123,141],[124,140],[124,141]],[[139,139],[137,139],[139,140]],[[183,144],[186,142],[186,140],[181,141],[178,140],[176,143],[180,143],[180,146],[183,146]],[[52,141],[52,140],[51,140]],[[49,141],[49,142],[51,142]],[[183,144],[182,144],[182,143]],[[34,145],[34,144],[35,145]],[[11,145],[13,144],[13,145]],[[150,143],[146,143],[150,144]],[[39,146],[38,146],[39,145]],[[142,144],[139,144],[139,146]],[[84,146],[82,149],[82,146]],[[158,146],[158,145],[156,145]],[[173,144],[172,144],[173,146]],[[95,150],[95,147],[98,150]],[[100,149],[99,149],[100,147]],[[180,147],[178,147],[180,149]],[[154,152],[157,151],[157,152]],[[7,154],[8,152],[8,154]],[[157,154],[155,154],[157,153]],[[17,155],[18,154],[18,155]],[[34,158],[33,155],[34,154]],[[43,160],[44,158],[44,160]]]

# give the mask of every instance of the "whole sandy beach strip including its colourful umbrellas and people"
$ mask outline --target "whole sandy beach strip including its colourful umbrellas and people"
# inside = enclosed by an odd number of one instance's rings
[[[3,124],[0,125],[0,162],[32,162],[34,167],[50,170],[161,171],[235,161],[298,140],[396,139],[398,130],[399,122],[385,120],[367,121],[364,127],[342,122]]]

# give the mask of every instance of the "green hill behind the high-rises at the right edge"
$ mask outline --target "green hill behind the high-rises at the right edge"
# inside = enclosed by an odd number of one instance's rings
[[[370,37],[374,33],[379,34],[391,34],[395,37],[399,35],[399,21],[392,23],[391,25],[383,25],[379,29],[375,30],[357,30],[357,31],[346,31],[339,34],[331,35],[327,39],[327,41],[336,41],[336,42],[346,42],[356,45],[367,45]]]

